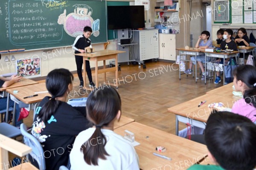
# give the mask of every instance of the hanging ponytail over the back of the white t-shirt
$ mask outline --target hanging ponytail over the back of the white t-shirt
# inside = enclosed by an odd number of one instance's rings
[[[109,156],[104,148],[106,143],[107,139],[103,135],[101,127],[96,125],[93,135],[81,146],[80,151],[84,154],[84,161],[89,165],[96,166],[98,165],[98,158],[105,160],[106,156]]]

